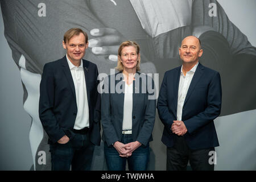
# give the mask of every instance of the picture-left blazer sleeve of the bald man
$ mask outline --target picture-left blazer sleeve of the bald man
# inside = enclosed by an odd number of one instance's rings
[[[171,126],[176,119],[169,111],[167,92],[167,73],[164,73],[163,82],[159,91],[158,104],[156,107],[158,109],[158,115],[161,122],[171,134]]]

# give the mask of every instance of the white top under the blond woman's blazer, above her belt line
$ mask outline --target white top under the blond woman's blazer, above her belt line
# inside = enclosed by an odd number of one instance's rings
[[[123,130],[131,130],[133,127],[133,83],[125,82],[125,100],[123,101]]]

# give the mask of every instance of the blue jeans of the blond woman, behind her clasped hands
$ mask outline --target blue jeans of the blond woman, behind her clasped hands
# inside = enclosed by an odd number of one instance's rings
[[[121,142],[123,144],[134,142],[131,134],[123,134]],[[147,146],[140,146],[129,158],[122,158],[119,156],[118,151],[113,146],[104,144],[104,153],[106,164],[109,171],[125,171],[126,161],[130,171],[146,171],[147,164],[150,156],[150,148]]]

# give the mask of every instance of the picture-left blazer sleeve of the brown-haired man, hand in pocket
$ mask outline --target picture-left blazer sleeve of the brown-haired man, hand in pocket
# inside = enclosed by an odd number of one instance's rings
[[[54,88],[53,70],[51,64],[46,64],[44,65],[42,80],[40,82],[39,118],[44,130],[53,143],[65,135],[53,113]]]

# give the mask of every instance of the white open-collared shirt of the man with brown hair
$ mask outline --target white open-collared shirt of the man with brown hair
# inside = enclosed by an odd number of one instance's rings
[[[87,100],[84,68],[82,66],[82,60],[80,66],[76,67],[71,63],[67,55],[66,57],[76,91],[77,115],[74,129],[81,130],[84,127],[89,127],[89,106]]]

